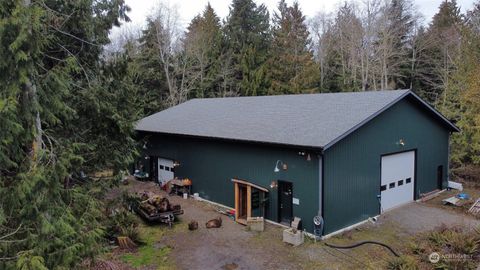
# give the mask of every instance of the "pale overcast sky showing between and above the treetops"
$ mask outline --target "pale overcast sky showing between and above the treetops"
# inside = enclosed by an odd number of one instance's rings
[[[126,3],[132,8],[129,17],[132,22],[130,26],[142,27],[145,19],[149,16],[158,5],[158,1],[167,2],[170,6],[177,6],[180,14],[180,22],[183,26],[187,26],[190,20],[195,15],[202,12],[208,2],[217,12],[220,18],[225,18],[228,15],[230,0],[126,0]],[[265,4],[270,13],[276,9],[278,0],[254,0],[257,4]],[[291,4],[294,0],[287,0]],[[362,0],[359,0],[362,1]],[[425,16],[425,21],[428,23],[432,16],[437,12],[438,6],[444,0],[414,0],[418,10]],[[315,16],[320,11],[331,12],[344,2],[344,0],[298,0],[303,13],[307,18]],[[462,8],[462,12],[473,7],[474,0],[457,0],[458,5]],[[113,34],[118,32],[118,29],[113,30]]]

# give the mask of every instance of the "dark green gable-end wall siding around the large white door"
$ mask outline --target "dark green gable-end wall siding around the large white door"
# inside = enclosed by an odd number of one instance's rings
[[[403,99],[324,153],[325,234],[379,214],[381,155],[416,150],[415,198],[448,175],[449,131],[425,108]],[[398,144],[403,139],[405,145]]]

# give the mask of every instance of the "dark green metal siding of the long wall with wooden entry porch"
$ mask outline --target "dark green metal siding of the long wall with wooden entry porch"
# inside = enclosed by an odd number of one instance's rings
[[[270,188],[270,183],[292,182],[293,197],[300,199],[300,205],[293,205],[293,215],[302,218],[304,228],[312,232],[312,220],[319,210],[318,157],[311,153],[311,161],[307,161],[298,152],[267,145],[154,134],[146,154],[179,161],[175,176],[192,179],[193,192],[232,208],[235,196],[232,178],[269,189],[266,218],[274,221],[278,218],[278,194],[276,188]],[[285,162],[288,169],[275,173],[277,160]]]

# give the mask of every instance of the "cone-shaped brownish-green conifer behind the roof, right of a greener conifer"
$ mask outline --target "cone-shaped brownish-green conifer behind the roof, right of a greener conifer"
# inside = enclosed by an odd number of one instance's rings
[[[273,17],[269,93],[315,92],[320,74],[310,49],[305,16],[298,2],[289,7],[281,0],[278,10]]]

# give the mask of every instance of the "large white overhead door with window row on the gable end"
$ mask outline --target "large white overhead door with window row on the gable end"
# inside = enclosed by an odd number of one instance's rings
[[[413,201],[415,152],[383,156],[381,168],[382,212]]]

